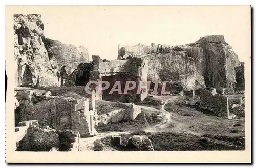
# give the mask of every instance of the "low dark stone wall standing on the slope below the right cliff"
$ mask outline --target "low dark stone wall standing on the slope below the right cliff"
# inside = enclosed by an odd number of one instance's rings
[[[219,117],[229,117],[228,98],[216,93],[216,90],[200,88],[196,90],[200,97],[200,106],[210,110],[210,114]]]

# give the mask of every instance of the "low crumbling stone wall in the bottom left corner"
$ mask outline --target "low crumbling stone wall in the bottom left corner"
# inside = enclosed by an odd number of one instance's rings
[[[26,130],[24,129],[26,128]],[[22,131],[26,132],[19,137]],[[72,130],[60,130],[40,126],[36,120],[23,121],[15,127],[17,151],[79,151],[80,134]]]

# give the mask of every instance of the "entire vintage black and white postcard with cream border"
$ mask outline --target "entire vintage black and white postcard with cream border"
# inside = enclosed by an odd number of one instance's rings
[[[250,160],[250,11],[6,7],[6,155],[76,162],[107,151],[114,162],[111,153],[232,151]]]

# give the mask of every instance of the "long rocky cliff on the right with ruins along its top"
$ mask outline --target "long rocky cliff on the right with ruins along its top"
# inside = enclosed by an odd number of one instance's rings
[[[195,43],[180,46],[136,45],[118,48],[118,59],[142,57],[148,59],[148,80],[166,80],[185,90],[214,87],[220,93],[236,87],[236,69],[240,62],[222,35],[200,38]],[[238,78],[238,77],[237,77]]]

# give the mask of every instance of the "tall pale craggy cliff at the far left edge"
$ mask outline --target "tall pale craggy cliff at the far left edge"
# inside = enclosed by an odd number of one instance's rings
[[[59,86],[59,68],[42,41],[40,15],[13,15],[15,86]]]

